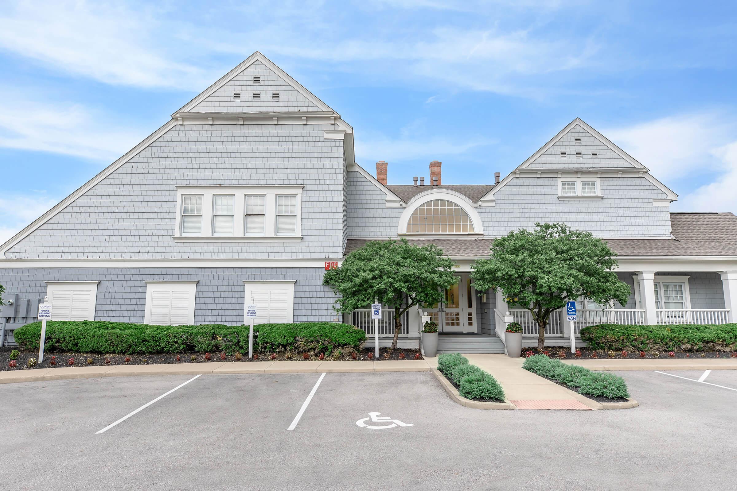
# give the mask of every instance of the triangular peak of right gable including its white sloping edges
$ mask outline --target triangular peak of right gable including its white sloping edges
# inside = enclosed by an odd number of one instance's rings
[[[604,135],[576,118],[519,169],[645,169]]]

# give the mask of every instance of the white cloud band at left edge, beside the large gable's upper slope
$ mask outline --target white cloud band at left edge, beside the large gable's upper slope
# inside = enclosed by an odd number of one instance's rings
[[[0,146],[112,161],[144,138],[145,130],[116,127],[82,105],[36,102],[10,89],[0,100]]]

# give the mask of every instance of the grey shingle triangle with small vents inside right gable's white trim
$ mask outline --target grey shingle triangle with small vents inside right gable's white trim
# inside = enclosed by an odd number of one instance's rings
[[[576,137],[581,138],[580,144],[576,143]],[[598,156],[592,157],[592,151],[597,152]],[[560,152],[566,152],[565,158],[561,157]],[[581,158],[576,158],[576,152],[581,152]],[[534,169],[607,167],[632,169],[633,166],[618,153],[609,149],[609,146],[604,145],[598,138],[584,130],[579,124],[571,128],[568,133],[528,165],[528,168]]]

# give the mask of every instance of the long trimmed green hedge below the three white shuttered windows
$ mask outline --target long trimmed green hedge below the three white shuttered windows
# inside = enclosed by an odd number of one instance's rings
[[[41,322],[32,322],[13,333],[27,350],[38,349]],[[320,351],[332,353],[357,349],[366,333],[336,322],[259,324],[254,326],[254,350]],[[151,354],[184,351],[228,354],[248,351],[247,325],[148,325],[105,321],[46,322],[45,349],[49,352]]]

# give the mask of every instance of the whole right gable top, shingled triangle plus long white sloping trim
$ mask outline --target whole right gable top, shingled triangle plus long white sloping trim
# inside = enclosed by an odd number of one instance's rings
[[[581,143],[576,143],[576,137],[581,138]],[[561,155],[565,152],[565,157]],[[581,157],[576,155],[581,152]],[[596,155],[593,156],[593,152]],[[650,174],[649,169],[638,160],[632,158],[627,152],[619,148],[609,138],[590,127],[585,121],[576,118],[570,121],[560,132],[553,136],[548,143],[543,145],[537,152],[517,166],[499,184],[494,186],[480,202],[493,203],[494,194],[503,186],[522,172],[544,172],[544,171],[609,171],[638,172],[646,180],[649,180],[657,188],[660,188],[671,200],[678,199],[665,184],[661,183]]]

